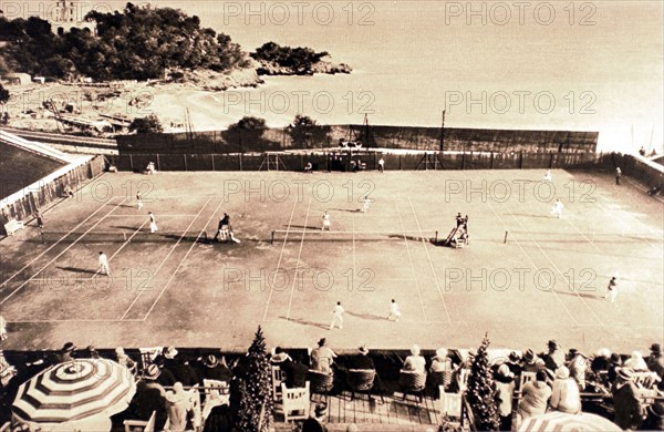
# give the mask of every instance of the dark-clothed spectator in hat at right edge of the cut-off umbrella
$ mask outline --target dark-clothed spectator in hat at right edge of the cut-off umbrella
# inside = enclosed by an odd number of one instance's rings
[[[611,388],[615,418],[613,422],[624,430],[636,430],[643,423],[643,405],[639,390],[633,383],[634,371],[620,368],[618,378]]]

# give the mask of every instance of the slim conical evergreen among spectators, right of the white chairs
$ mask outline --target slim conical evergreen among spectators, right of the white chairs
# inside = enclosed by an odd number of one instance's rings
[[[468,390],[466,390],[466,399],[475,415],[475,426],[478,431],[500,430],[500,419],[496,404],[496,385],[494,384],[494,374],[487,354],[489,343],[489,336],[485,333],[481,346],[473,360],[470,374],[468,376]]]

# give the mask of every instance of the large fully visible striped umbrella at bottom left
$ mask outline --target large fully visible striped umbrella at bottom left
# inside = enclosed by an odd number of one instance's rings
[[[77,359],[52,366],[21,384],[12,405],[25,423],[60,424],[126,410],[136,392],[132,373],[106,359]]]

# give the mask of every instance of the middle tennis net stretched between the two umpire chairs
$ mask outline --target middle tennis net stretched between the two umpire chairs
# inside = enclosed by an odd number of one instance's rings
[[[438,233],[436,232],[334,232],[334,230],[289,230],[274,229],[271,235],[271,243],[284,241],[390,241],[390,240],[414,240],[414,241],[436,241]]]

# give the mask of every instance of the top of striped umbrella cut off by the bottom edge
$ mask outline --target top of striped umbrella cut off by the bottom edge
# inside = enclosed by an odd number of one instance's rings
[[[519,426],[519,432],[620,432],[615,423],[603,416],[582,413],[566,414],[564,412],[550,412],[525,419]]]

